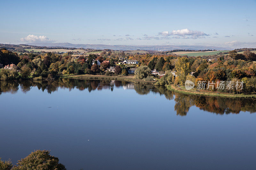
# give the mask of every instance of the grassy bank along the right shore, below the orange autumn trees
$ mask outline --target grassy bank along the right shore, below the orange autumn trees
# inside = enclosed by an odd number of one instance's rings
[[[183,94],[198,95],[198,96],[211,96],[211,97],[226,97],[226,98],[256,98],[255,94],[229,94],[229,93],[215,93],[215,92],[196,92],[186,90],[175,85],[165,85],[167,90],[179,92]]]

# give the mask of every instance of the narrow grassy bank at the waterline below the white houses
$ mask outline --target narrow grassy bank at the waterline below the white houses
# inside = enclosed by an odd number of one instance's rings
[[[61,76],[61,78],[79,78],[79,79],[92,79],[92,80],[120,80],[120,81],[130,81],[134,83],[147,84],[147,85],[153,85],[156,83],[156,81],[144,81],[141,79],[134,78],[133,75],[118,77],[118,76],[84,74],[84,75],[67,75],[67,76],[64,75],[64,76]]]

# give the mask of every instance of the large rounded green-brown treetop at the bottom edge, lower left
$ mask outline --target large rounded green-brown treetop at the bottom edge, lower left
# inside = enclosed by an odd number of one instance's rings
[[[17,166],[12,170],[66,170],[63,164],[59,163],[57,157],[51,156],[50,151],[34,151],[31,152],[26,158],[18,161]]]

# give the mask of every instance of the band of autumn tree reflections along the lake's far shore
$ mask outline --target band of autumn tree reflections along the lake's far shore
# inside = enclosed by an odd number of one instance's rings
[[[43,92],[48,93],[57,91],[59,88],[67,88],[69,91],[76,88],[81,91],[87,89],[89,92],[93,90],[108,89],[113,91],[114,87],[123,87],[123,89],[134,89],[140,95],[148,93],[158,93],[164,95],[166,99],[175,101],[174,109],[177,115],[187,115],[190,107],[196,106],[201,110],[212,112],[215,114],[239,114],[240,111],[256,112],[256,99],[230,99],[220,97],[205,97],[185,95],[181,93],[168,91],[164,86],[157,87],[154,85],[134,84],[126,81],[116,80],[79,80],[61,78],[56,81],[0,81],[0,95],[2,92],[15,93],[19,89],[26,93],[31,87],[37,87]]]

